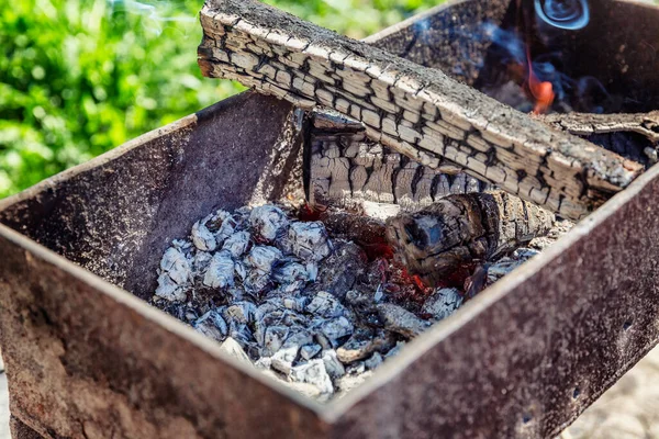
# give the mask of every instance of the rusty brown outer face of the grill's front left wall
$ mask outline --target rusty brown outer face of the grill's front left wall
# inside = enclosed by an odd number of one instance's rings
[[[44,437],[301,438],[323,430],[316,405],[225,360],[219,345],[7,227],[0,235],[10,408]]]

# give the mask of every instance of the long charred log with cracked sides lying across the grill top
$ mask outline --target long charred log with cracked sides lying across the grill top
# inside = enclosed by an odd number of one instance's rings
[[[643,166],[424,68],[254,0],[208,0],[199,65],[302,109],[334,109],[424,166],[471,176],[578,219]]]

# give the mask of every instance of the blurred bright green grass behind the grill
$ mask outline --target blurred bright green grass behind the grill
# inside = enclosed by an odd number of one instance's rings
[[[203,0],[0,7],[0,198],[242,90],[197,67]],[[443,0],[267,0],[360,38]]]

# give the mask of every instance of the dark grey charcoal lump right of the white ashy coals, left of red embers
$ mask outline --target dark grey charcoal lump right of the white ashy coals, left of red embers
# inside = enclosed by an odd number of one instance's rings
[[[359,246],[354,243],[339,243],[319,268],[319,279],[314,288],[343,300],[358,277],[366,271],[367,263],[366,255]]]

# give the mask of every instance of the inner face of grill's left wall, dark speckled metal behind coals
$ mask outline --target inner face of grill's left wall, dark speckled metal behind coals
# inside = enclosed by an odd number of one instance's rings
[[[148,299],[168,243],[244,205],[272,160],[290,171],[300,145],[276,144],[291,114],[273,98],[227,99],[0,201],[0,223]],[[272,196],[284,182],[268,179]]]

